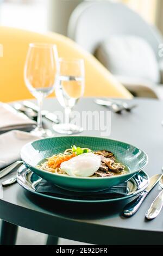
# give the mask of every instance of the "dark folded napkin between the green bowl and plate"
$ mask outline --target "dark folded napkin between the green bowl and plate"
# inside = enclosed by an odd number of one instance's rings
[[[40,184],[36,188],[36,192],[48,194],[55,197],[62,197],[68,199],[79,199],[79,200],[103,200],[110,199],[112,197],[120,197],[127,195],[127,182],[120,184],[115,187],[108,188],[108,190],[103,190],[100,192],[73,192],[68,190],[63,190],[58,186],[55,186],[49,181],[41,180]]]

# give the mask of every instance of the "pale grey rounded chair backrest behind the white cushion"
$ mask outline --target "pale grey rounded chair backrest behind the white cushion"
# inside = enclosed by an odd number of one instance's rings
[[[84,2],[73,11],[68,36],[94,54],[99,43],[110,35],[135,35],[148,41],[159,59],[159,36],[139,14],[122,3]]]

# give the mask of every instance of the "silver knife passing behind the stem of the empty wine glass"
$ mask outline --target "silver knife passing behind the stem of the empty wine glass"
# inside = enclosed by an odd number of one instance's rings
[[[39,107],[37,107],[37,105],[35,105],[33,102],[25,100],[25,101],[23,101],[23,106],[32,109],[36,113],[39,112]],[[41,111],[41,114],[42,114],[43,117],[45,117],[49,121],[52,121],[55,124],[59,124],[59,120],[58,120],[57,115],[55,115],[55,114],[53,114],[53,113],[51,113],[47,110]]]

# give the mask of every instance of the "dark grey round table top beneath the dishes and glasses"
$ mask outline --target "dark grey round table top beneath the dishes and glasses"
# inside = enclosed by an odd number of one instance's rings
[[[145,168],[149,176],[161,173],[163,166],[163,102],[134,99],[137,108],[131,113],[111,113],[109,138],[134,144],[149,157]],[[44,108],[63,111],[57,100],[46,99]],[[77,111],[106,111],[91,98],[79,101]],[[52,124],[45,122],[52,128]],[[84,131],[83,136],[101,136],[101,131]],[[55,133],[55,136],[60,136]],[[10,174],[12,176],[12,174]],[[1,182],[6,179],[3,178]],[[155,220],[145,220],[145,212],[160,191],[157,185],[131,218],[121,216],[126,200],[113,204],[59,203],[26,192],[20,185],[0,187],[0,218],[42,233],[95,244],[161,244],[163,243],[163,212]]]

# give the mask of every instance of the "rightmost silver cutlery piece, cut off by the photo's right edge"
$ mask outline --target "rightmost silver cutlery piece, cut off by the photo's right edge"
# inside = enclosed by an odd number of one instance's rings
[[[162,188],[162,191],[159,193],[159,195],[156,197],[154,202],[151,204],[149,210],[146,212],[146,218],[147,220],[153,220],[156,218],[163,207],[163,175],[159,182],[160,187]]]

